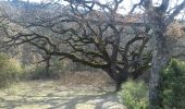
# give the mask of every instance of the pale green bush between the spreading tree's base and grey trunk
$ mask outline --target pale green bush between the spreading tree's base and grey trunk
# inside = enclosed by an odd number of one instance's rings
[[[128,109],[148,108],[148,87],[143,81],[135,82],[128,80],[122,85],[122,90],[118,95]]]

